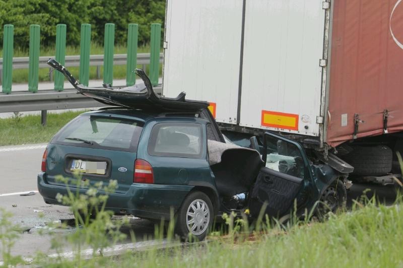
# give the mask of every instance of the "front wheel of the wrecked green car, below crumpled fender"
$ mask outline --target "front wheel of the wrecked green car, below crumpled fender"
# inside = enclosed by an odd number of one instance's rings
[[[328,212],[336,212],[338,209],[346,205],[347,190],[342,180],[336,179],[322,192],[319,198],[318,206],[319,216],[323,216]]]

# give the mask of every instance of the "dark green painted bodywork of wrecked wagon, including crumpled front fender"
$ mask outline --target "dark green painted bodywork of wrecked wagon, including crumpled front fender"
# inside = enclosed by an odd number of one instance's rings
[[[109,179],[116,179],[118,187],[114,193],[109,194],[106,208],[116,214],[131,214],[140,218],[168,219],[171,209],[176,213],[184,198],[189,192],[198,190],[205,192],[212,200],[215,215],[219,212],[230,212],[222,206],[221,196],[217,190],[215,175],[209,165],[209,154],[207,150],[207,125],[209,120],[197,117],[159,117],[157,114],[146,114],[139,111],[125,109],[103,110],[84,113],[81,116],[97,116],[105,118],[122,118],[136,120],[143,125],[141,136],[138,141],[136,152],[124,152],[119,150],[94,149],[90,146],[83,147],[83,144],[65,144],[57,142],[59,131],[47,146],[46,172],[38,174],[38,189],[47,204],[59,204],[56,194],[65,194],[66,185],[56,180],[57,175],[72,177],[65,165],[66,156],[90,160],[105,159],[111,164],[110,174],[107,176],[84,175],[91,183],[98,181],[108,182]],[[172,157],[153,156],[148,152],[150,135],[157,124],[191,123],[199,124],[203,129],[202,150],[200,157]],[[70,124],[74,124],[71,122]],[[282,138],[279,136],[279,138]],[[284,138],[282,138],[284,139]],[[301,151],[302,147],[293,141],[288,141],[297,146]],[[153,167],[154,183],[134,183],[133,172],[136,159],[146,160]],[[337,178],[338,174],[326,165],[312,166],[304,157],[304,165],[310,168],[305,169],[305,176],[302,187],[296,196],[303,204],[303,208],[312,208],[323,190]],[[120,172],[119,168],[127,169]],[[75,187],[74,184],[69,187]],[[87,189],[80,188],[79,192],[85,194]],[[292,197],[291,199],[294,199]],[[261,205],[261,204],[260,204]],[[260,205],[251,208],[259,211]]]

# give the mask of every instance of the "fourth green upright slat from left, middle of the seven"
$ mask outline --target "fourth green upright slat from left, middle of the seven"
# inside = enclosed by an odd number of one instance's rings
[[[91,47],[91,24],[81,25],[80,40],[80,83],[88,87],[90,80],[90,47]]]

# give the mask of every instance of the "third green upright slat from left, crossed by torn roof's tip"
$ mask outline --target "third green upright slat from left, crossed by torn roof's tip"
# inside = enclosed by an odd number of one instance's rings
[[[66,25],[57,24],[56,26],[56,60],[64,65],[66,51]],[[54,74],[54,90],[62,91],[64,89],[64,76],[60,72]]]

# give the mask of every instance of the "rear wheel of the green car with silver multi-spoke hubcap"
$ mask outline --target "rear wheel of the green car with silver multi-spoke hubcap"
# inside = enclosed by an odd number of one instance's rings
[[[183,241],[201,241],[210,231],[213,219],[214,209],[209,196],[201,191],[191,192],[176,215],[175,233]]]

